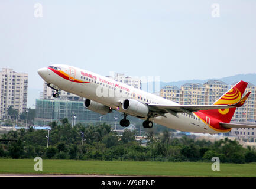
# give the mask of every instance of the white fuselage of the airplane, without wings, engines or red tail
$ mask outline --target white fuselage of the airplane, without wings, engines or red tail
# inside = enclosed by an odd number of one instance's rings
[[[50,69],[44,68],[46,70],[41,71],[41,73],[38,71],[38,73],[47,83],[52,83],[66,92],[102,103],[119,112],[124,112],[121,103],[125,99],[136,99],[145,104],[177,105],[177,103],[172,102],[171,100],[163,99],[162,97],[140,89],[135,89],[134,87],[92,73],[88,70],[62,64],[54,64],[53,66],[59,67],[61,71],[64,71],[64,73],[71,76],[72,79],[64,79]],[[85,74],[83,75],[82,73]],[[76,83],[73,82],[73,79],[89,83]],[[221,133],[210,128],[210,125],[197,118],[196,115],[190,116],[186,113],[179,113],[177,116],[174,116],[170,113],[166,113],[165,116],[166,117],[157,116],[155,118],[150,118],[150,120],[166,126],[167,128],[184,132]]]

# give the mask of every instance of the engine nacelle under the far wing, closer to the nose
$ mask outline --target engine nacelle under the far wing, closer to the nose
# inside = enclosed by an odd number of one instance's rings
[[[101,103],[85,99],[85,102],[83,103],[86,109],[92,110],[93,112],[100,113],[100,114],[107,114],[111,113],[111,109],[108,106],[102,105]]]

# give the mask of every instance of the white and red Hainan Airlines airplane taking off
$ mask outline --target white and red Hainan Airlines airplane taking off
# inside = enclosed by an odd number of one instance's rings
[[[232,128],[256,128],[252,123],[231,122],[236,108],[244,105],[250,94],[242,97],[248,84],[244,81],[235,84],[213,105],[180,105],[74,66],[53,64],[37,72],[55,90],[53,97],[59,97],[61,89],[85,97],[85,108],[93,112],[102,115],[114,110],[121,112],[123,127],[129,126],[129,115],[144,120],[144,128],[158,123],[183,132],[217,134],[230,132]]]

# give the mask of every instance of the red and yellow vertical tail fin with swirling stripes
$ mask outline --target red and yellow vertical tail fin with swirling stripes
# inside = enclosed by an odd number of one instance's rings
[[[213,105],[230,105],[238,103],[247,87],[247,82],[240,81],[235,84],[228,92],[223,94]],[[200,110],[199,112],[211,115],[222,122],[229,123],[234,115],[236,107],[216,110]]]

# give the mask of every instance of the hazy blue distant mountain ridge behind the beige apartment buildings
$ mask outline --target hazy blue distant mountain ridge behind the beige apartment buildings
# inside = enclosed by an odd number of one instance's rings
[[[209,80],[221,80],[222,82],[225,82],[226,84],[233,84],[235,82],[239,82],[240,80],[243,80],[245,82],[256,84],[256,73],[238,74],[235,76],[222,77],[222,78],[218,78],[218,79],[183,80],[183,81],[177,81],[177,82],[160,82],[160,89],[166,85],[180,87],[185,83],[201,83],[201,84],[203,84]]]

